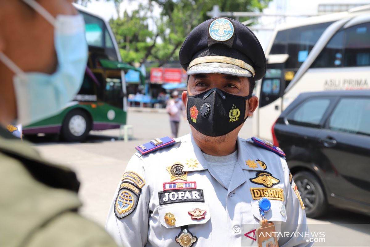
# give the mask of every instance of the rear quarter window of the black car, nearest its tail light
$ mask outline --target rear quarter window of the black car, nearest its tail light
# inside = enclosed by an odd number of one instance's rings
[[[289,124],[319,127],[330,99],[315,98],[304,101],[287,116]]]

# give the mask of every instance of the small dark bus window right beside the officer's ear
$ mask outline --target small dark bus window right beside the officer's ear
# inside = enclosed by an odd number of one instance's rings
[[[281,69],[267,69],[262,79],[260,107],[266,106],[280,97],[281,90]]]

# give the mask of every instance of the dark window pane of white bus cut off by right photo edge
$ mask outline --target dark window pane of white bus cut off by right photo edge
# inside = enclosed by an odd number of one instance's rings
[[[346,29],[344,41],[344,66],[370,65],[370,23]]]

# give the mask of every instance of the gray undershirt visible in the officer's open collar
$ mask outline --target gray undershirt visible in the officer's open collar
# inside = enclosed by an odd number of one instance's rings
[[[238,160],[238,150],[234,153],[226,156],[213,156],[203,153],[204,158],[210,167],[219,179],[221,179],[222,186],[225,188],[229,187],[232,174],[234,172],[234,166]]]

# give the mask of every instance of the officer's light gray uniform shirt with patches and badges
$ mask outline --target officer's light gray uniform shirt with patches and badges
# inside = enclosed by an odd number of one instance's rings
[[[134,196],[133,201],[127,199],[130,206],[136,206],[123,218],[116,216],[117,210],[122,207],[122,198],[118,195],[122,193],[121,184],[131,181],[131,178],[120,181],[115,191],[106,230],[118,244],[125,247],[178,247],[180,245],[175,239],[181,233],[181,227],[188,226],[188,230],[198,238],[193,247],[241,246],[242,241],[245,246],[257,246],[255,240],[244,234],[260,228],[259,221],[262,217],[258,201],[263,196],[270,198],[271,209],[266,213],[266,219],[275,224],[276,231],[308,231],[305,210],[295,193],[294,182],[289,180],[290,173],[285,158],[238,137],[238,159],[226,189],[208,170],[208,163],[191,134],[175,140],[176,144],[146,155],[135,153],[129,161],[126,171],[133,172],[129,176],[134,178],[132,181],[139,181],[139,186],[136,187],[141,188],[132,188],[139,197],[137,200]],[[184,167],[186,176],[182,176],[182,180],[171,181],[174,177],[168,169],[173,168],[174,164]],[[259,172],[272,174],[275,184],[271,187],[263,185],[259,179],[263,176],[257,176]],[[172,201],[167,193],[164,196],[166,204],[159,204],[162,191],[166,192],[168,183],[175,182],[196,182],[198,192],[191,194],[190,189],[177,190],[185,193],[179,196],[181,201],[175,194],[172,199],[176,198],[177,201]],[[186,193],[187,190],[189,193]],[[186,197],[187,194],[189,197]],[[204,201],[198,199],[201,197]],[[205,218],[192,219],[188,212],[195,208],[206,210]],[[176,219],[173,226],[166,221],[168,213]],[[280,247],[311,246],[312,243],[307,243],[306,239],[292,235],[278,236]]]

